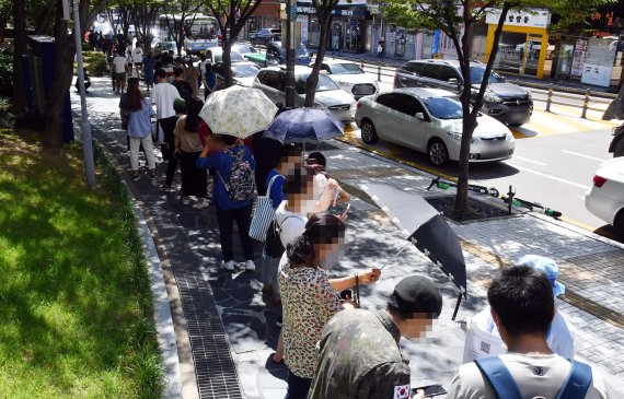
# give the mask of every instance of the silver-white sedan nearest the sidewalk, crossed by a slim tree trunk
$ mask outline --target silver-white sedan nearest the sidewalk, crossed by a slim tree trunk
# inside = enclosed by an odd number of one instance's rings
[[[441,166],[459,161],[462,104],[455,94],[439,89],[394,89],[360,98],[356,124],[368,144],[379,139],[408,146]],[[481,115],[470,148],[470,162],[508,160],[516,140],[498,120]]]

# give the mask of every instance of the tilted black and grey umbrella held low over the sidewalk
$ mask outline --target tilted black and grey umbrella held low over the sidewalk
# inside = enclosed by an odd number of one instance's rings
[[[361,188],[390,216],[405,238],[436,263],[460,289],[453,313],[454,320],[462,295],[467,297],[466,263],[455,232],[442,214],[416,193],[379,184]]]

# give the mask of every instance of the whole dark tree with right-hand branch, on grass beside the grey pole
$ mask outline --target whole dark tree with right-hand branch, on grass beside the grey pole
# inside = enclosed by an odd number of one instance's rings
[[[78,0],[74,0],[78,1]],[[89,21],[104,10],[108,0],[95,0],[91,4],[90,0],[80,0],[80,26],[82,35],[86,32]],[[62,0],[56,0],[48,9],[55,15],[54,38],[55,38],[55,80],[51,82],[47,93],[46,106],[44,108],[44,150],[58,152],[62,148],[62,124],[65,98],[71,85],[73,77],[73,56],[76,55],[76,44],[73,33],[68,34],[69,23],[63,20]]]

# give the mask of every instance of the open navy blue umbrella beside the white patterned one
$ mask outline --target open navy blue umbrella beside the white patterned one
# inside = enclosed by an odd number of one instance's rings
[[[344,132],[344,125],[327,112],[316,108],[296,108],[279,114],[266,128],[263,137],[284,144],[317,143]]]

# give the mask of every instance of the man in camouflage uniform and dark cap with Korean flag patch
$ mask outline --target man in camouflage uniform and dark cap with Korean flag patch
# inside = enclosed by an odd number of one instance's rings
[[[310,399],[409,398],[409,361],[398,340],[419,338],[441,310],[436,285],[412,275],[396,284],[384,310],[338,312],[321,336]]]

